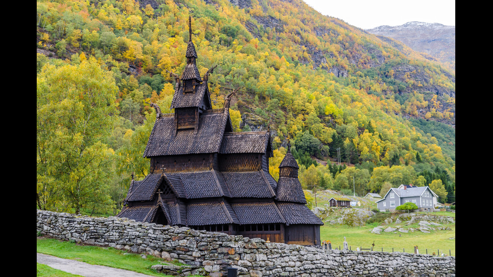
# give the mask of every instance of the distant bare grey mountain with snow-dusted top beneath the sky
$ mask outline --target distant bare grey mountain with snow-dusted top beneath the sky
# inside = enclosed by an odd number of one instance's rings
[[[366,31],[398,40],[415,51],[431,55],[455,70],[455,26],[408,22],[401,26],[385,25]]]

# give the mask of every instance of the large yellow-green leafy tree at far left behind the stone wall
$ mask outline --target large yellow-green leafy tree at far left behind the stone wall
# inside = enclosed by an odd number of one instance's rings
[[[113,151],[101,142],[118,112],[111,74],[90,59],[47,65],[36,82],[38,208],[79,213],[111,205],[105,182]]]

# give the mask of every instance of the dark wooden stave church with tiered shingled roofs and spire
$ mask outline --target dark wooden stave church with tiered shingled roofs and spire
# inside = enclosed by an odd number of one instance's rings
[[[163,225],[262,238],[301,245],[320,244],[322,221],[306,207],[298,164],[288,150],[279,180],[269,173],[269,131],[233,132],[229,94],[212,109],[208,77],[195,65],[190,39],[187,66],[177,84],[173,114],[156,109],[144,151],[150,173],[131,181],[118,217]]]

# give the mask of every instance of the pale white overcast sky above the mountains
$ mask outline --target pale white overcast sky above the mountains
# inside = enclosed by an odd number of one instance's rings
[[[325,16],[361,29],[411,21],[455,26],[455,0],[303,0]]]

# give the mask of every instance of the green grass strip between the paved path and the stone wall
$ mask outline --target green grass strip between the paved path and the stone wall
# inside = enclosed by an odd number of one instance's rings
[[[153,276],[170,276],[159,274],[150,267],[154,264],[158,264],[162,259],[147,255],[146,258],[142,258],[140,254],[127,253],[126,251],[114,249],[111,247],[98,247],[77,245],[66,241],[59,241],[49,238],[36,238],[36,252],[57,256],[60,258],[73,259],[78,261],[87,262],[90,264],[105,265],[114,268],[121,268],[131,270],[147,275]],[[38,276],[57,276],[57,274],[50,275],[48,270],[42,266],[37,266],[37,272],[43,272],[47,275]],[[50,267],[48,267],[50,268]],[[56,270],[56,269],[53,269]],[[68,274],[67,276],[72,276]]]

